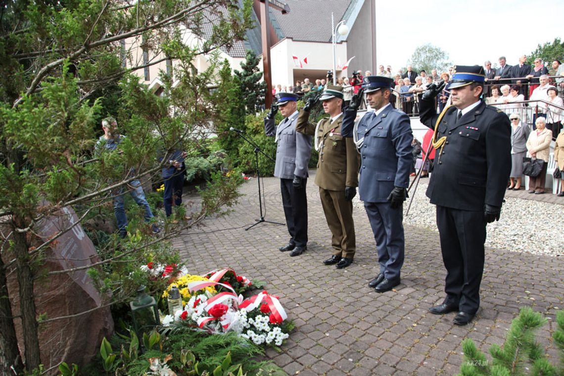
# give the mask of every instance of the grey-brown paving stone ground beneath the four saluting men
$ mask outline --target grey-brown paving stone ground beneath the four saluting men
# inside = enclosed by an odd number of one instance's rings
[[[245,231],[259,218],[256,179],[240,188],[243,196],[230,215],[208,218],[173,241],[194,273],[232,267],[266,281],[268,292],[280,297],[296,328],[281,352],[268,349],[266,357],[288,374],[453,375],[463,360],[462,339],[472,338],[485,352],[491,344],[502,344],[523,306],[548,317],[537,337],[556,364],[550,335],[556,312],[564,308],[561,257],[487,249],[481,308],[469,325],[456,326],[455,313],[428,312],[442,302],[446,275],[438,234],[433,231],[406,226],[402,284],[384,294],[367,286],[378,273],[378,263],[364,210],[354,212],[354,263],[341,270],[321,263],[332,254],[331,234],[313,180],[310,176],[307,182],[309,243],[300,256],[290,257],[277,249],[288,241],[285,225],[259,223]],[[284,222],[279,179],[263,179],[263,191],[265,219]],[[548,196],[537,195],[539,200]],[[185,202],[197,207],[199,200],[192,195]]]

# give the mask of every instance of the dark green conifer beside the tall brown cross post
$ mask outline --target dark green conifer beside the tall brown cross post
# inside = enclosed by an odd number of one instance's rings
[[[255,114],[265,103],[266,82],[261,81],[262,72],[258,69],[261,59],[252,50],[247,50],[245,61],[241,63],[241,72],[234,70],[239,78],[241,92],[245,93],[245,108],[247,114]]]

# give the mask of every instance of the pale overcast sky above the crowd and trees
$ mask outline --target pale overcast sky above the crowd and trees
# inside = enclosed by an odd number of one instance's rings
[[[510,65],[539,45],[563,38],[557,21],[564,1],[376,1],[376,62],[393,72],[407,66],[415,48],[431,43],[447,52],[452,63]],[[550,20],[553,21],[550,21]]]

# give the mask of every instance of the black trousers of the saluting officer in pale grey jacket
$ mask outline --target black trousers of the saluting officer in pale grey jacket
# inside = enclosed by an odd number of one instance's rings
[[[282,205],[286,225],[290,233],[290,243],[298,247],[307,245],[307,179],[302,179],[302,188],[296,189],[292,179],[280,179]]]

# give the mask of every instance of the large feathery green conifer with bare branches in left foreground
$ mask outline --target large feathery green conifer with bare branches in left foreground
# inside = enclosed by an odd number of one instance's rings
[[[13,261],[5,265],[0,258],[0,374],[11,374],[11,366],[16,371],[23,367],[8,299],[15,291],[6,289],[6,269],[15,269],[17,275],[25,368],[32,370],[40,363],[41,325],[59,319],[38,322],[41,312],[36,312],[33,294],[37,278],[86,268],[42,270],[42,254],[70,226],[42,241],[34,235],[37,224],[67,206],[83,221],[100,202],[111,200],[116,189],[158,174],[161,166],[153,157],[157,148],[166,152],[179,144],[188,151],[197,148],[210,122],[221,115],[209,87],[221,84],[226,77],[215,76],[217,61],[213,56],[205,72],[196,72],[191,61],[243,39],[252,25],[250,12],[249,0],[243,7],[237,0],[3,2],[0,214],[3,228],[11,233],[2,254],[9,253]],[[184,43],[187,31],[202,42]],[[143,50],[153,56],[148,62],[136,61],[135,54],[124,48],[141,40]],[[174,79],[179,84],[173,85],[172,77],[162,74],[164,96],[159,97],[140,85],[138,76],[131,72],[166,59],[177,62]],[[116,100],[119,106],[109,105]],[[95,130],[108,114],[117,117],[120,133],[127,139],[120,145],[121,154],[94,158]],[[135,173],[124,175],[131,167]],[[234,186],[223,182],[223,176],[214,176],[200,214],[178,225],[167,222],[164,238],[235,200]],[[116,273],[118,277],[129,275],[139,260],[158,250],[155,238],[144,236],[147,228],[142,221],[132,218],[128,229],[132,236],[110,242],[111,249],[105,254],[111,256],[96,264],[120,261],[124,269]],[[129,294],[127,288],[108,285],[120,281],[105,275],[104,268],[90,271],[92,276],[99,273],[103,291],[120,291],[114,299],[125,299]]]

